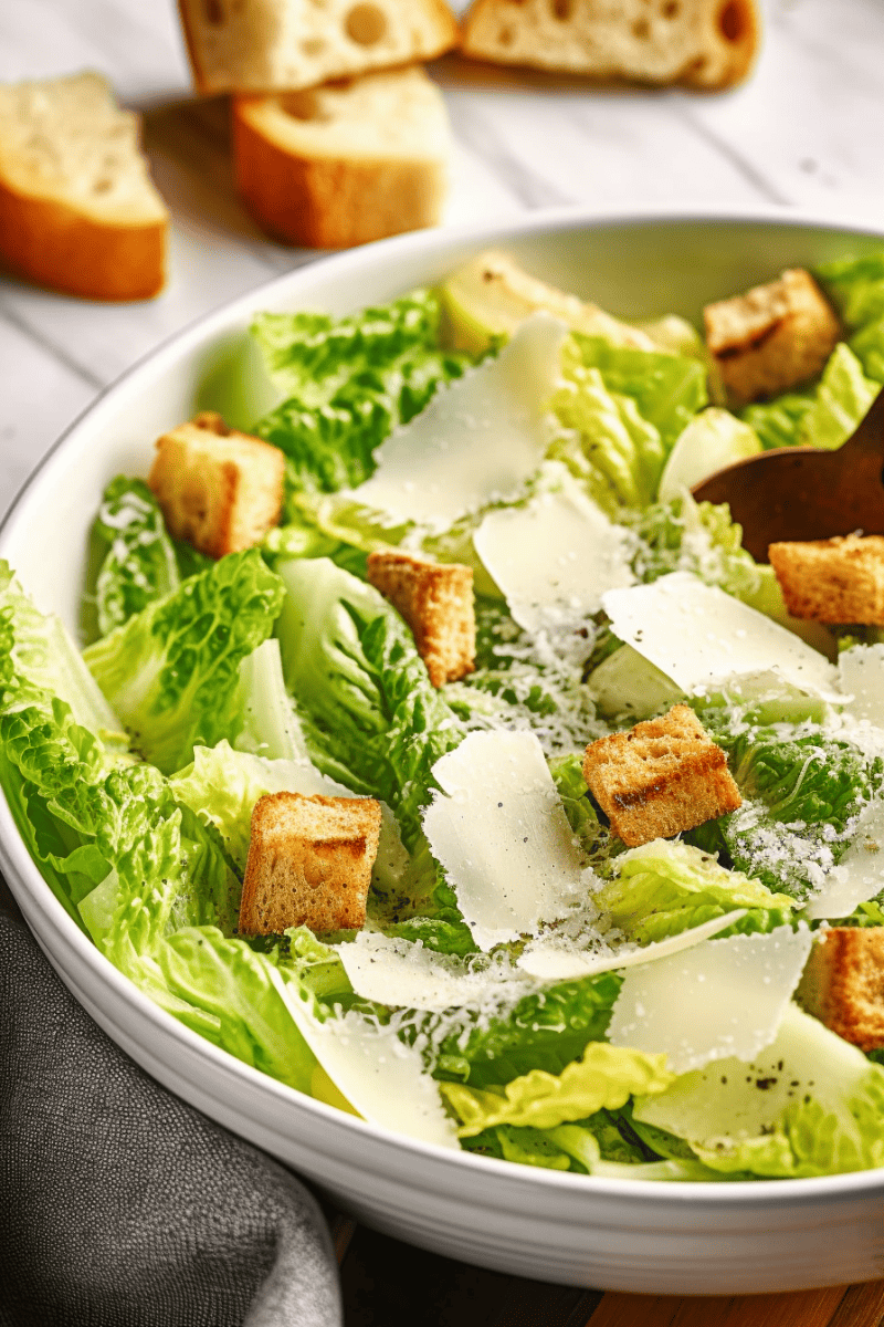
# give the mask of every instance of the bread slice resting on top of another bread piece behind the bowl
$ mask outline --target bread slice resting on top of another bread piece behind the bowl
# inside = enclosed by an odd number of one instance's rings
[[[200,92],[290,92],[457,44],[444,0],[179,0]]]

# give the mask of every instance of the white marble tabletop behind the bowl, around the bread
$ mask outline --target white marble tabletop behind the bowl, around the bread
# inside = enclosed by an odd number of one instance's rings
[[[456,141],[447,224],[578,203],[778,203],[884,223],[884,0],[762,0],[749,82],[725,94],[432,66]],[[103,72],[144,113],[172,212],[170,283],[143,304],[0,275],[0,510],[95,393],[199,314],[309,261],[266,240],[229,174],[227,111],[193,98],[174,0],[0,0],[0,81]]]

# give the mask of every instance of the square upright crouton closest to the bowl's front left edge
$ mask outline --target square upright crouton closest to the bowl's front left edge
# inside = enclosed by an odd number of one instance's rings
[[[379,833],[380,803],[372,798],[260,798],[252,812],[240,930],[278,936],[288,926],[364,926]]]

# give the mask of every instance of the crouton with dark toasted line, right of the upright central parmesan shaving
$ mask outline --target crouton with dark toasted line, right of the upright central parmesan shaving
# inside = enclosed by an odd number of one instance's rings
[[[725,752],[687,705],[591,742],[583,778],[630,848],[671,839],[742,804]]]

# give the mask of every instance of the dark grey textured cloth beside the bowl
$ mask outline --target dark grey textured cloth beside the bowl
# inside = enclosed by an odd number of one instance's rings
[[[0,914],[0,1327],[337,1327],[314,1198],[138,1068]]]

